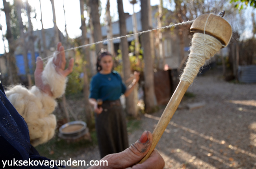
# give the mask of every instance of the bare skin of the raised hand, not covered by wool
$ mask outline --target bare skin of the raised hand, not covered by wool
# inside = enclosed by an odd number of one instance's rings
[[[57,44],[57,52],[58,55],[56,58],[54,58],[53,63],[55,65],[55,70],[60,75],[66,77],[72,72],[73,65],[74,65],[74,59],[71,58],[69,61],[69,66],[67,69],[65,69],[66,65],[66,58],[65,58],[65,51],[64,47],[59,42]],[[50,89],[50,86],[48,84],[43,84],[42,80],[42,72],[43,72],[44,63],[41,57],[37,57],[36,67],[35,67],[35,85],[44,93],[48,94],[49,96],[52,96],[52,91]]]

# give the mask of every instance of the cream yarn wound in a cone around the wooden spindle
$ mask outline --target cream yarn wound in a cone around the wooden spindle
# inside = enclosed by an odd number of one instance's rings
[[[195,33],[189,49],[189,58],[180,80],[192,84],[200,67],[204,65],[206,60],[214,56],[221,47],[221,42],[213,36],[203,33]]]

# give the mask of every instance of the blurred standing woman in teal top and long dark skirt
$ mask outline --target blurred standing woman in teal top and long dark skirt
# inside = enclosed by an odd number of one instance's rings
[[[128,148],[125,115],[119,97],[128,96],[139,80],[139,73],[134,73],[134,80],[128,88],[121,76],[112,71],[113,59],[110,53],[103,52],[98,56],[97,71],[90,84],[89,101],[96,113],[96,132],[100,155],[119,153]],[[98,107],[97,99],[103,104]]]

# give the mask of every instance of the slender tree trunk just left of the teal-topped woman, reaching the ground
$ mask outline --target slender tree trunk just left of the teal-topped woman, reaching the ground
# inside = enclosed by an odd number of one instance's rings
[[[83,5],[84,2],[83,0],[80,0],[80,12],[81,12],[81,27],[80,29],[82,30],[82,44],[83,45],[87,45],[88,44],[88,40],[86,38],[86,34],[87,34],[87,30],[86,30],[86,25],[85,25],[85,18],[83,16]],[[85,50],[85,48],[83,48],[83,55],[85,55],[83,57],[83,60],[85,60],[85,58],[87,58],[87,63],[90,63],[90,60],[88,60],[89,57],[89,50]],[[91,64],[89,64],[91,65]],[[91,67],[91,66],[90,66]],[[83,65],[83,96],[84,96],[84,106],[85,106],[85,114],[86,114],[86,123],[88,126],[91,126],[91,122],[92,122],[92,109],[91,109],[91,105],[89,103],[89,82],[88,82],[88,76],[87,76],[87,71],[86,71],[86,67],[85,65]]]

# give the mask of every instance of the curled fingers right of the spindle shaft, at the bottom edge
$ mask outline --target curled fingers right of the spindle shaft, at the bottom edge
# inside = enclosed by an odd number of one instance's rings
[[[132,168],[127,169],[163,169],[165,161],[156,149],[152,152],[149,158],[142,164],[136,164]]]

